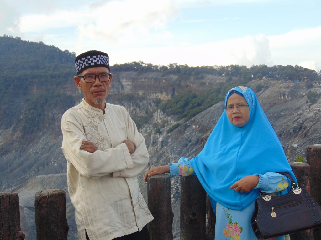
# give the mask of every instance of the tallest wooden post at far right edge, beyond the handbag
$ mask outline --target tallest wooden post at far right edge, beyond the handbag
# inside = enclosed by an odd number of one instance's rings
[[[310,164],[310,195],[321,204],[321,144],[309,145],[305,150],[305,159]],[[321,228],[313,229],[314,240],[321,239]]]

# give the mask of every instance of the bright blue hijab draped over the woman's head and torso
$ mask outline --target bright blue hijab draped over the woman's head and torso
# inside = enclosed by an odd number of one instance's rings
[[[225,106],[234,91],[241,93],[247,101],[250,109],[247,124],[243,127],[233,125],[224,110],[203,150],[190,163],[212,203],[214,200],[230,209],[242,210],[255,201],[259,192],[252,189],[239,193],[230,189],[237,180],[266,172],[289,172],[296,179],[253,90],[232,88],[225,96]]]

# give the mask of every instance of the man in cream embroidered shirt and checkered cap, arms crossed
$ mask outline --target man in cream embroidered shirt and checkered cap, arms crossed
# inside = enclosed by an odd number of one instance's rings
[[[74,82],[84,98],[62,116],[62,151],[80,240],[149,239],[153,217],[137,175],[149,155],[143,135],[122,106],[106,103],[109,57],[88,51],[75,59]]]

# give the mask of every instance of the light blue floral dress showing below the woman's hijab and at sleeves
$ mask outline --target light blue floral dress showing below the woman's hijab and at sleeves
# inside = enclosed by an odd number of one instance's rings
[[[195,175],[188,158],[182,157],[178,163],[169,163],[169,166],[170,177]],[[259,183],[255,188],[273,193],[272,195],[280,195],[280,191],[289,186],[289,180],[276,172],[255,175],[259,176]],[[229,209],[216,203],[215,240],[257,240],[251,226],[254,209],[254,202],[243,210]],[[290,240],[290,236],[279,236],[271,240]]]

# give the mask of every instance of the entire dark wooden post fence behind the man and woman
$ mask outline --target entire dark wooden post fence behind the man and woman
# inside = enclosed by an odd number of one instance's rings
[[[321,204],[321,144],[306,148],[307,163],[291,163],[299,187],[306,188]],[[180,239],[214,239],[215,215],[196,176],[181,177]],[[172,240],[173,212],[169,175],[156,175],[147,181],[148,207],[154,220],[148,224],[151,240]],[[66,240],[65,192],[48,189],[35,196],[37,240]],[[19,197],[0,193],[0,240],[23,240],[20,227]],[[321,228],[291,234],[291,240],[319,240]]]

